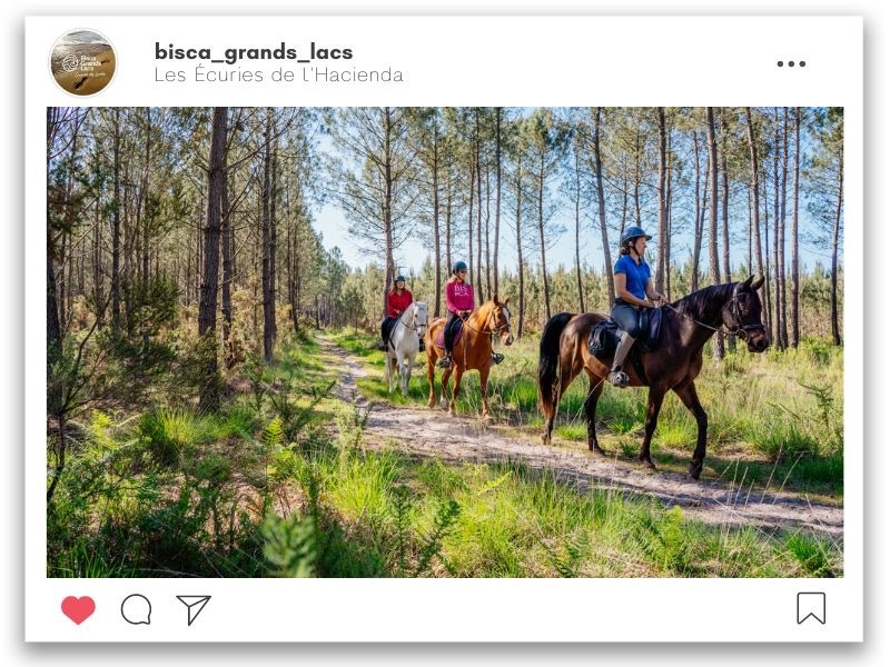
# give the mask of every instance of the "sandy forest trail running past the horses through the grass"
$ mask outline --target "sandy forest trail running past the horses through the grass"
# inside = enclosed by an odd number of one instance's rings
[[[318,341],[332,367],[337,367],[336,398],[347,404],[355,401],[363,411],[369,409],[365,438],[372,447],[396,447],[412,456],[437,458],[447,464],[510,459],[532,470],[548,470],[581,492],[603,489],[654,497],[669,507],[680,506],[685,515],[711,525],[754,526],[767,531],[803,530],[838,542],[843,539],[843,508],[811,501],[803,495],[750,490],[749,486],[715,479],[694,481],[675,472],[651,472],[630,461],[545,447],[498,432],[502,429],[497,425],[449,417],[438,408],[369,404],[356,385],[356,379],[366,375],[360,361],[329,340]]]

